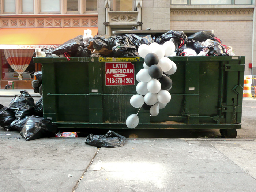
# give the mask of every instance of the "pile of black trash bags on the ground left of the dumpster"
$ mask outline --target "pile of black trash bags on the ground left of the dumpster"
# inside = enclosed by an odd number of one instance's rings
[[[0,126],[7,131],[17,130],[25,140],[55,136],[57,125],[43,118],[43,98],[34,103],[26,91],[20,91],[8,107],[0,105]]]

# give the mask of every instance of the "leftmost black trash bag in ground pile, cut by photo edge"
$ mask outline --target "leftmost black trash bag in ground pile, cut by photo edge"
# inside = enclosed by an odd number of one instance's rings
[[[12,121],[14,121],[16,119],[15,117],[15,113],[6,107],[2,107],[0,109],[0,126],[7,129]]]

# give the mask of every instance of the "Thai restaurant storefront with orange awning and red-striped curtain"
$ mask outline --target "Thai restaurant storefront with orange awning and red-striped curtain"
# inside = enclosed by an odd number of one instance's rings
[[[56,48],[90,29],[92,35],[98,27],[67,28],[1,28],[0,29],[0,86],[14,82],[15,89],[31,89],[33,73],[41,64],[33,63],[35,48]]]

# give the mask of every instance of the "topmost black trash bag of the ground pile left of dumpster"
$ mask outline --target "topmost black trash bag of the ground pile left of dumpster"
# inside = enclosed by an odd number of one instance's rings
[[[15,116],[19,120],[26,115],[32,115],[35,108],[35,102],[31,95],[26,90],[20,91],[20,93],[21,95],[13,98],[8,106],[15,112]]]

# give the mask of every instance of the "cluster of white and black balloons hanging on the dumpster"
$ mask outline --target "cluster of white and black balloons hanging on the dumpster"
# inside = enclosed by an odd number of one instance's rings
[[[130,103],[135,108],[149,110],[152,116],[157,116],[160,109],[165,108],[171,100],[169,90],[172,88],[172,79],[169,75],[176,72],[177,66],[168,57],[175,51],[172,41],[167,41],[163,45],[151,43],[139,46],[138,53],[144,58],[143,69],[136,74],[139,82],[136,86],[137,95],[133,95]],[[144,97],[143,97],[144,95]],[[132,114],[126,119],[129,128],[137,127],[139,117]]]

